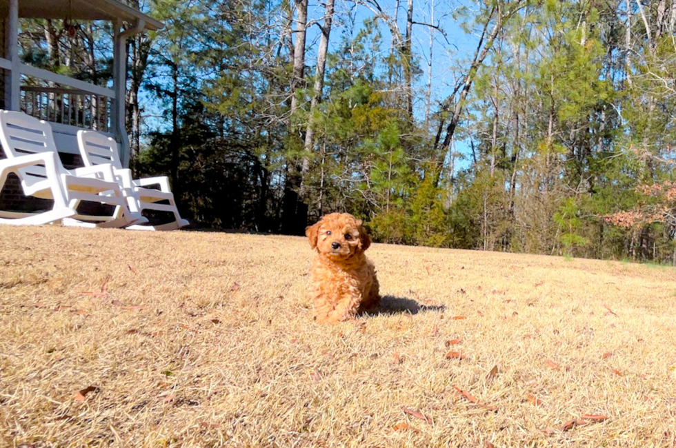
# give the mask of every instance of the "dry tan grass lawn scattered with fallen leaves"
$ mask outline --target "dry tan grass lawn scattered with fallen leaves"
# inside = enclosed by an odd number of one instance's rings
[[[2,446],[675,446],[673,268],[374,245],[381,314],[323,327],[304,238],[0,241]]]

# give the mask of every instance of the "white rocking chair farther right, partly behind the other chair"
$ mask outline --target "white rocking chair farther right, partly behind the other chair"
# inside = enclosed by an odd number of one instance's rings
[[[130,227],[127,227],[128,229],[175,230],[190,224],[179,214],[167,176],[132,179],[131,170],[122,167],[117,151],[117,142],[100,132],[79,131],[77,132],[77,143],[86,167],[112,165],[115,180],[123,190],[129,209],[133,213],[140,214],[143,210],[157,210],[159,212],[170,212],[174,215],[173,221],[168,223],[160,225],[137,223],[130,225]],[[160,189],[148,188],[152,185],[159,185]],[[159,203],[160,201],[167,201],[168,203]]]

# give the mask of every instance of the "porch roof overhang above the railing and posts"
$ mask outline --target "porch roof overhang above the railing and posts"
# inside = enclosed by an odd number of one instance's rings
[[[0,0],[0,15],[7,15],[8,5],[9,0]],[[121,19],[129,23],[141,19],[146,23],[146,30],[159,30],[164,27],[161,21],[117,0],[19,0],[19,17],[109,21]]]

